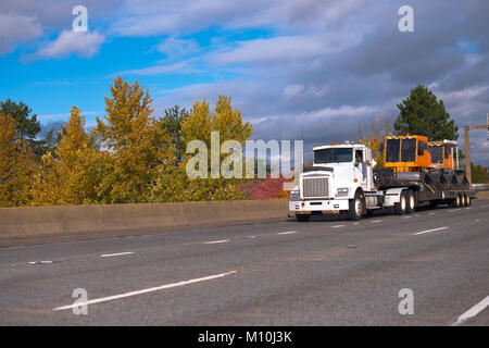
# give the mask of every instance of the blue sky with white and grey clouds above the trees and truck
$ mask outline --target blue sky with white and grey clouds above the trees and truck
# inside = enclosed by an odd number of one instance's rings
[[[75,5],[88,30],[74,32]],[[414,32],[402,33],[401,5]],[[398,114],[416,85],[459,126],[489,112],[487,0],[2,0],[0,100],[27,103],[43,125],[87,127],[122,76],[153,98],[155,115],[220,94],[254,139],[358,140],[359,125]],[[488,133],[471,130],[473,161],[489,166]]]

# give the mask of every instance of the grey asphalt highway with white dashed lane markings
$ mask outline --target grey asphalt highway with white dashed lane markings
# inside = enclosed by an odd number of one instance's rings
[[[489,325],[488,296],[489,201],[0,249],[0,325]]]

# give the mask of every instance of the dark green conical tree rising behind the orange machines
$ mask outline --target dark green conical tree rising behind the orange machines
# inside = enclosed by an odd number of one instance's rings
[[[413,134],[427,136],[429,140],[456,140],[459,127],[444,110],[443,101],[426,87],[418,85],[411,90],[409,98],[400,104],[394,122],[398,135]]]

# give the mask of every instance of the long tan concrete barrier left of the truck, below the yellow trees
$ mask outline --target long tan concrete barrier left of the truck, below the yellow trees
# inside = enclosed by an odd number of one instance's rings
[[[18,239],[113,236],[287,219],[288,200],[60,206],[0,209],[0,246]],[[63,239],[63,238],[61,238]]]

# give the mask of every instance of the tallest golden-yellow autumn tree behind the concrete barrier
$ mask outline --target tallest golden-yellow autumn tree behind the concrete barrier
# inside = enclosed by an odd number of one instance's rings
[[[151,102],[137,80],[130,85],[117,77],[111,84],[111,97],[105,97],[106,115],[104,121],[97,117],[92,133],[104,151],[110,173],[98,189],[105,203],[149,201],[150,187],[174,156],[167,134],[154,122]]]

